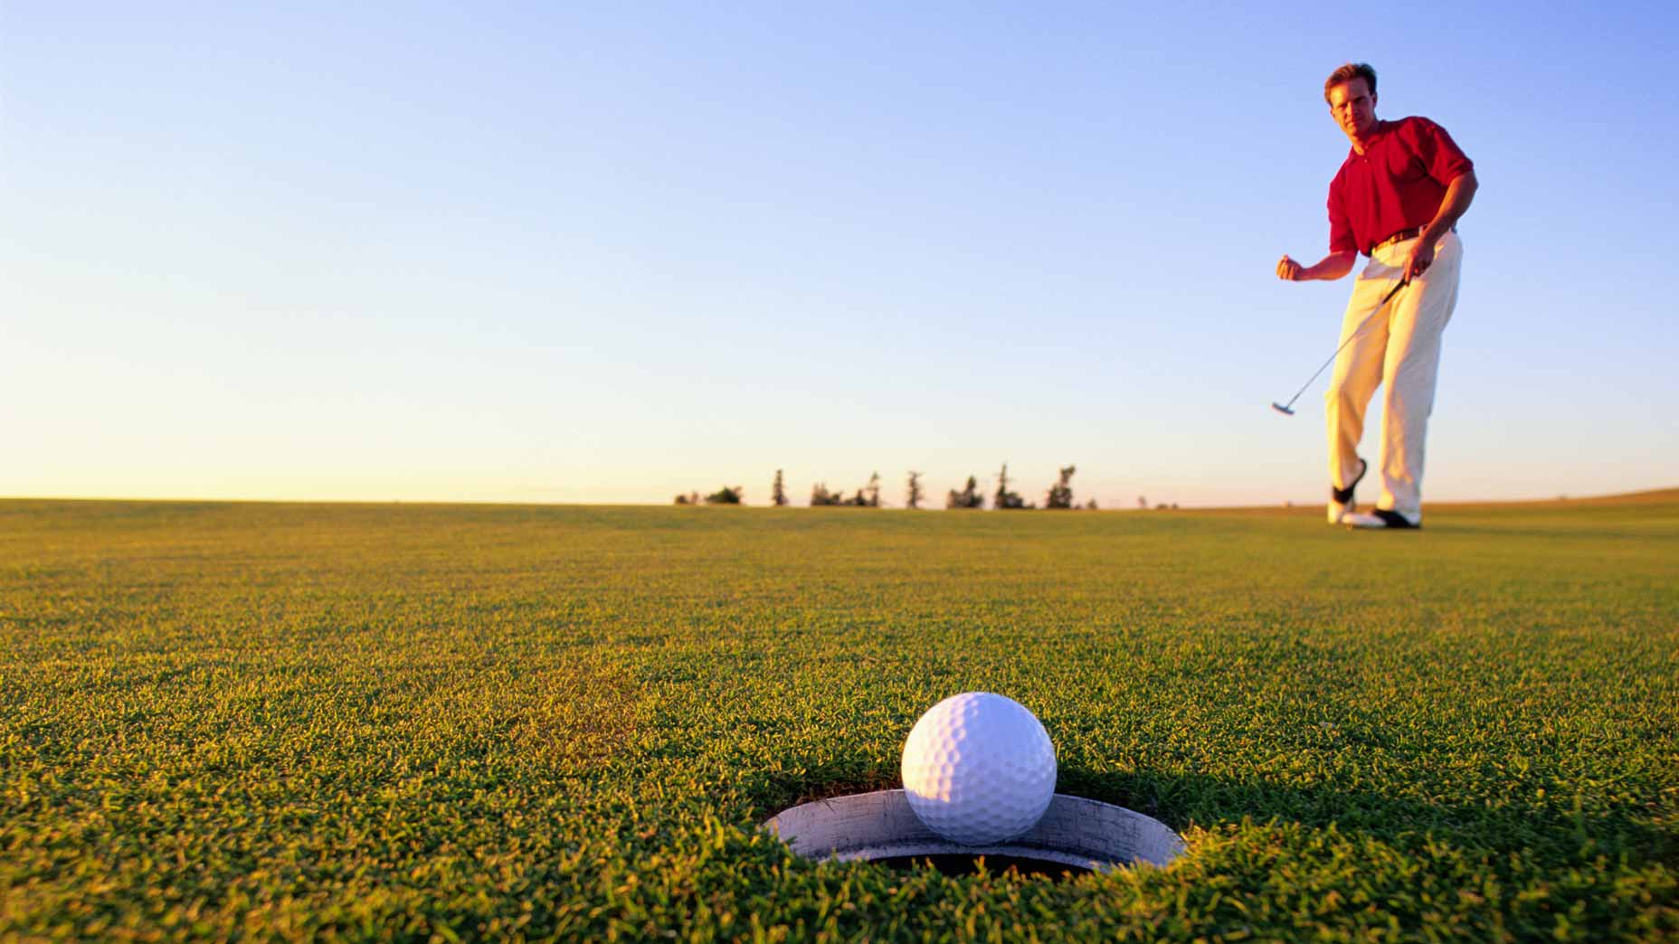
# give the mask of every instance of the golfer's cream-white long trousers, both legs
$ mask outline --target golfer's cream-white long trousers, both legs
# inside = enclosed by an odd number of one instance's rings
[[[1429,433],[1429,413],[1434,412],[1441,334],[1457,307],[1462,242],[1457,233],[1441,237],[1427,272],[1412,279],[1385,311],[1377,312],[1382,296],[1404,275],[1402,267],[1412,245],[1414,239],[1375,250],[1358,274],[1342,319],[1342,341],[1360,326],[1363,331],[1335,359],[1335,373],[1323,400],[1330,432],[1330,484],[1345,489],[1358,477],[1365,408],[1375,388],[1385,388],[1382,454],[1375,467],[1382,474],[1377,507],[1415,521],[1422,516],[1422,442]]]

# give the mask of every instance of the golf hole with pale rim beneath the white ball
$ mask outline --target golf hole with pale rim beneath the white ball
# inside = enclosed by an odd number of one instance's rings
[[[965,847],[928,830],[902,789],[855,793],[801,803],[771,816],[764,828],[809,858],[875,862],[897,868],[930,863],[945,875],[1016,868],[1023,875],[1061,878],[1088,872],[1169,865],[1184,855],[1184,840],[1165,823],[1133,810],[1054,795],[1043,820],[997,845]]]

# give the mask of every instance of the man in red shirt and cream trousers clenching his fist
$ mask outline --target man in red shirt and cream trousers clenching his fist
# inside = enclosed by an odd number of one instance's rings
[[[1276,274],[1291,282],[1340,279],[1363,254],[1325,393],[1330,432],[1330,524],[1422,527],[1422,443],[1434,410],[1441,333],[1457,306],[1462,244],[1457,218],[1474,198],[1474,165],[1427,118],[1380,121],[1375,69],[1342,66],[1323,84],[1330,116],[1352,151],[1330,181],[1330,254],[1316,265],[1288,255]],[[1405,282],[1385,306],[1389,291]],[[1350,341],[1350,343],[1348,343]],[[1358,457],[1365,408],[1382,400],[1382,496],[1360,514],[1353,489],[1368,465]]]

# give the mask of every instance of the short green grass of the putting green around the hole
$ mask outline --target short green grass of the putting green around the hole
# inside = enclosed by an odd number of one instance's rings
[[[1679,501],[1283,512],[0,502],[0,939],[1679,937]],[[1004,692],[1180,830],[814,863]]]

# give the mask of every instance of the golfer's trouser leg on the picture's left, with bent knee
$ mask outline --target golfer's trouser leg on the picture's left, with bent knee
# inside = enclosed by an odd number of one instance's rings
[[[1353,297],[1348,299],[1347,314],[1342,317],[1342,343],[1360,328],[1363,331],[1358,331],[1358,336],[1335,358],[1330,390],[1323,395],[1330,433],[1330,524],[1338,524],[1342,514],[1352,511],[1352,497],[1336,501],[1335,492],[1352,489],[1363,475],[1358,440],[1363,438],[1365,408],[1382,383],[1382,353],[1387,349],[1387,317],[1370,317],[1370,314],[1397,279],[1395,269],[1367,265],[1353,282]],[[1402,291],[1400,296],[1404,294]]]

